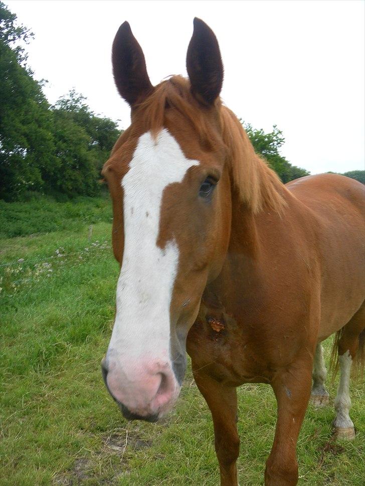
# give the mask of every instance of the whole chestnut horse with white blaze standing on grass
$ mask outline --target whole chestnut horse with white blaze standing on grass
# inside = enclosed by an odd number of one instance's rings
[[[334,430],[354,436],[349,373],[365,341],[364,187],[335,174],[279,180],[221,101],[218,41],[200,19],[189,79],[152,86],[127,22],[112,65],[131,124],[102,170],[120,264],[102,360],[107,389],[125,418],[159,420],[176,401],[188,353],[212,413],[221,484],[234,485],[236,388],[271,385],[277,424],[265,484],[292,486],[309,399],[328,402],[321,342],[334,333]]]

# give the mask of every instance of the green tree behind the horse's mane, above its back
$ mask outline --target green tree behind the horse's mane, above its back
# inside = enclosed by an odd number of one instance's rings
[[[242,122],[242,124],[256,153],[267,161],[282,182],[286,183],[298,177],[309,175],[307,170],[292,165],[280,154],[280,147],[285,142],[285,138],[283,132],[276,125],[273,126],[272,132],[265,133],[262,128],[259,130],[253,128],[250,123]]]

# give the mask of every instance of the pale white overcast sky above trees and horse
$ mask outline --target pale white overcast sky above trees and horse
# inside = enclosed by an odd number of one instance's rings
[[[200,17],[215,32],[225,65],[222,98],[255,128],[283,131],[283,155],[311,173],[364,168],[365,3],[345,1],[5,0],[35,39],[27,46],[51,103],[72,87],[96,113],[129,125],[111,73],[111,45],[125,20],[152,84],[186,76]]]

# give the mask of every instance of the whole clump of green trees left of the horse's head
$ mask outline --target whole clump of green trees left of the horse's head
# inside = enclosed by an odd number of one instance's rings
[[[19,43],[34,37],[0,1],[0,198],[29,190],[94,195],[100,169],[119,135],[116,122],[95,115],[72,90],[55,106],[27,68]]]

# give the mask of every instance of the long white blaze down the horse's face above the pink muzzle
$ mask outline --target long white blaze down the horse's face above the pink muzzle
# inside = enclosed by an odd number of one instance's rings
[[[170,302],[178,265],[174,240],[157,247],[163,190],[198,165],[185,157],[166,129],[138,140],[123,177],[124,253],[116,291],[116,317],[109,344],[124,371],[131,358],[168,359]],[[130,363],[133,368],[133,364]]]

